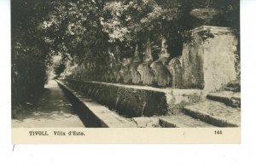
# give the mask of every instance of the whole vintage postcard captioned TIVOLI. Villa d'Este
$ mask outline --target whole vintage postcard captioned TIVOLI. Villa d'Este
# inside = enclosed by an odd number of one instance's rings
[[[240,1],[11,1],[12,142],[240,143]]]

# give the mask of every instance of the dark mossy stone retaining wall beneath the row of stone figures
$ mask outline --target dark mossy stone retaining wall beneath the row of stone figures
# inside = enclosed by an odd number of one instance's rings
[[[124,117],[151,117],[176,113],[181,111],[184,105],[198,102],[203,97],[202,91],[196,89],[156,89],[72,79],[61,82]]]

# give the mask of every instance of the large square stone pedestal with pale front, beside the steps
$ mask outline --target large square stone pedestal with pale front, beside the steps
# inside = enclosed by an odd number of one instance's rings
[[[200,26],[184,37],[182,85],[216,91],[236,80],[237,39],[226,27]]]

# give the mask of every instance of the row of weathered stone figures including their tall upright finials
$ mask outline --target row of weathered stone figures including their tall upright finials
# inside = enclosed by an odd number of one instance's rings
[[[153,60],[150,41],[148,40],[143,61],[138,56],[138,46],[136,46],[133,57],[116,60],[113,54],[110,54],[108,64],[95,67],[80,66],[73,75],[73,78],[157,87],[180,87],[182,82],[180,56],[169,60],[170,54],[167,53],[165,38],[163,38],[161,45],[158,60]]]

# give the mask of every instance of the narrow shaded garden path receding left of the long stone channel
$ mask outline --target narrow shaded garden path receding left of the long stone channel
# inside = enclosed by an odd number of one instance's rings
[[[12,127],[84,128],[84,124],[73,111],[73,106],[54,80],[45,86],[36,106],[29,106],[12,119]]]

